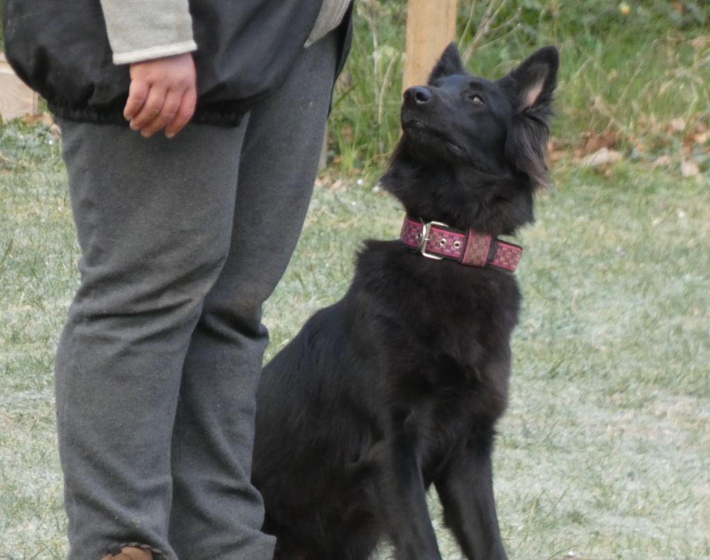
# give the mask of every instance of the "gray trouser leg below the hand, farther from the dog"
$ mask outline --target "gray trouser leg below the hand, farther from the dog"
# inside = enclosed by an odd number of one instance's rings
[[[231,240],[244,126],[63,121],[82,280],[56,361],[70,559],[168,543],[182,367]],[[191,560],[191,559],[190,559]]]

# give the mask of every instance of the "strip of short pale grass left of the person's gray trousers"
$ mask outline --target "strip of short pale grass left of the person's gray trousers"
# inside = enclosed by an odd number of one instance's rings
[[[59,559],[51,371],[78,251],[58,139],[45,126],[3,126],[0,154],[0,558]]]

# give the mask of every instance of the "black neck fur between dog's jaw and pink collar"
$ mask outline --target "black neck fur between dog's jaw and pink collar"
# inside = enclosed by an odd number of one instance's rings
[[[525,175],[488,175],[473,166],[426,165],[408,157],[405,144],[381,184],[406,212],[491,236],[510,235],[534,220],[532,187]]]

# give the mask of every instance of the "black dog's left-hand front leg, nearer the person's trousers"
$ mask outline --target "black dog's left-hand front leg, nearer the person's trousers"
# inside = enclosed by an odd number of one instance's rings
[[[397,560],[442,560],[427,507],[416,440],[406,422],[383,442],[376,491]]]

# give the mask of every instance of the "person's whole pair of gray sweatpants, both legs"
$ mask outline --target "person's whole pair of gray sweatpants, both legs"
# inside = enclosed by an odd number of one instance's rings
[[[261,307],[312,192],[334,33],[241,126],[62,121],[82,249],[56,361],[71,560],[266,560],[250,483]]]

